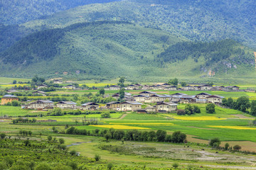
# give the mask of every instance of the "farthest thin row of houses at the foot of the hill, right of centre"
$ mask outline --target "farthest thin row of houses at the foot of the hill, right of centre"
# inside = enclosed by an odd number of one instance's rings
[[[112,85],[106,90],[119,90],[120,86]],[[142,84],[131,84],[124,89],[127,90],[167,90],[167,91],[238,91],[239,86],[210,86],[207,84],[198,86],[184,86],[178,88],[177,86],[171,86],[170,84],[156,84],[156,85],[142,85]]]

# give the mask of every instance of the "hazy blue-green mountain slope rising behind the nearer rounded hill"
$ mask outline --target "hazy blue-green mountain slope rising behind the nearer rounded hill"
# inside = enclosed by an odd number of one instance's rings
[[[234,39],[256,47],[255,1],[116,1],[90,4],[24,23],[27,28],[63,28],[92,21],[130,21],[189,40]]]

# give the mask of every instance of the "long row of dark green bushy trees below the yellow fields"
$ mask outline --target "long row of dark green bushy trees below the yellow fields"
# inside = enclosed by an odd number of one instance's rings
[[[56,131],[58,132],[58,131]],[[129,140],[129,141],[156,141],[156,142],[174,142],[183,143],[186,142],[186,134],[181,131],[176,131],[172,135],[167,135],[166,130],[154,130],[150,131],[139,131],[139,130],[79,130],[75,127],[70,127],[65,131],[66,134],[70,135],[90,135],[105,137],[106,140]]]

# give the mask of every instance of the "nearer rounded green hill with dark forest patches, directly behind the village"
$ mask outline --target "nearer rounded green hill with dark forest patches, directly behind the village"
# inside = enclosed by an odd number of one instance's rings
[[[125,21],[76,23],[22,38],[0,55],[1,76],[255,76],[250,48],[234,40],[191,42]],[[210,74],[209,74],[210,73]]]

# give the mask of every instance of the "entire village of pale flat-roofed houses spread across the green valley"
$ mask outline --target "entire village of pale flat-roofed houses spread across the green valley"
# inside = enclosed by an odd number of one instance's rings
[[[53,84],[62,84],[60,80],[53,81]],[[48,88],[46,84],[41,84],[36,87],[33,94],[40,94],[40,96],[46,96],[45,91],[40,89]],[[73,91],[79,90],[73,84],[62,86],[62,89]],[[105,91],[120,91],[124,90],[124,96],[120,100],[120,94],[105,94],[104,98],[113,98],[113,101],[108,103],[95,103],[87,102],[75,103],[75,101],[50,101],[44,99],[38,99],[36,101],[26,101],[21,103],[23,109],[34,109],[38,111],[48,111],[49,109],[61,108],[68,110],[81,110],[81,111],[132,111],[137,113],[174,113],[178,110],[178,104],[180,103],[214,103],[221,106],[223,96],[208,94],[206,92],[199,91],[242,91],[238,86],[210,86],[203,85],[188,85],[178,88],[178,86],[172,86],[170,84],[155,84],[155,85],[142,85],[142,84],[130,84],[122,88],[118,85],[111,85],[105,87]],[[150,91],[151,90],[151,91]],[[157,94],[158,90],[166,91],[168,94]],[[138,91],[138,94],[132,95],[128,91]],[[174,94],[171,94],[174,91]],[[175,91],[183,91],[183,93]],[[186,91],[198,91],[196,95],[188,95]],[[12,101],[18,101],[18,96],[11,95],[17,92],[14,89],[6,90],[8,94],[1,98],[1,105],[6,105]],[[143,106],[143,107],[142,107]]]

